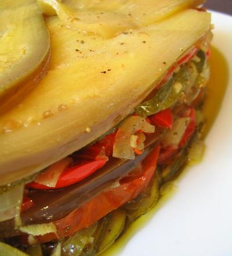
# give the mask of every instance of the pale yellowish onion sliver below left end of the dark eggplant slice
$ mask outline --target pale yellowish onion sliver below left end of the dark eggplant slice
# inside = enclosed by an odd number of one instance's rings
[[[34,224],[19,227],[23,233],[32,234],[33,236],[42,236],[43,234],[56,233],[56,226],[52,222],[43,224]]]

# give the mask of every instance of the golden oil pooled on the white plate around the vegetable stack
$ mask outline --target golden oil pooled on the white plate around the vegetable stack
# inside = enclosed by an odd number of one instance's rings
[[[211,59],[209,63],[211,65],[211,76],[207,86],[208,91],[203,106],[203,112],[206,119],[205,127],[202,130],[203,138],[207,136],[213,123],[215,122],[216,117],[218,116],[229,81],[229,69],[226,59],[215,47],[212,47]],[[182,175],[183,173],[181,173],[180,177]],[[139,229],[141,229],[144,225],[146,225],[148,221],[150,221],[155,212],[159,211],[159,209],[162,208],[164,204],[166,204],[166,201],[173,196],[175,191],[177,191],[175,182],[169,182],[165,184],[165,190],[161,191],[161,199],[158,201],[157,205],[143,216],[140,216],[139,219],[134,221],[126,229],[126,232],[114,242],[113,246],[108,248],[108,250],[106,250],[104,253],[100,254],[100,256],[119,255],[119,253],[124,249],[126,243],[128,243],[128,241]]]

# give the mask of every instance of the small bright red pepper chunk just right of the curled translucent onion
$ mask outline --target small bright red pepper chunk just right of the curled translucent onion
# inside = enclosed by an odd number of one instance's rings
[[[149,116],[151,125],[172,129],[173,115],[169,108]]]

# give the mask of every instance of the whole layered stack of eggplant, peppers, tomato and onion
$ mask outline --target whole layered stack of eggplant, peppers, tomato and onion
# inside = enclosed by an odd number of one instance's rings
[[[200,3],[2,0],[1,255],[100,254],[201,157]]]

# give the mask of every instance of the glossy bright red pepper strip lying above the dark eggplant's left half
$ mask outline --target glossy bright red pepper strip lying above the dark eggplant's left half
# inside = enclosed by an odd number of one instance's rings
[[[26,186],[30,189],[38,190],[61,189],[62,187],[71,186],[92,175],[96,170],[102,168],[107,161],[107,157],[102,157],[97,160],[81,161],[73,167],[68,167],[61,173],[55,187],[48,187],[37,182],[31,182]]]

